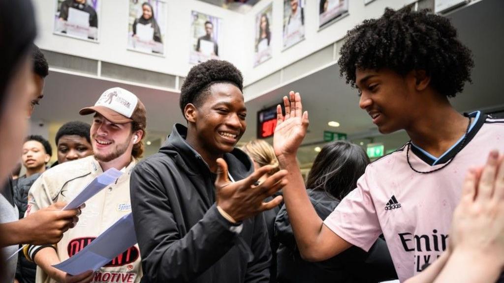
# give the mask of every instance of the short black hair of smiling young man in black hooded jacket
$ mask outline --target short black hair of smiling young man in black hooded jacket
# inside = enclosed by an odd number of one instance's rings
[[[189,71],[180,89],[180,110],[193,103],[200,106],[203,98],[210,94],[210,87],[216,83],[230,83],[243,91],[243,77],[233,64],[223,60],[208,60]],[[185,117],[185,115],[184,115]]]

